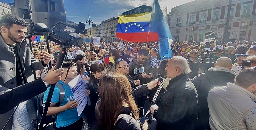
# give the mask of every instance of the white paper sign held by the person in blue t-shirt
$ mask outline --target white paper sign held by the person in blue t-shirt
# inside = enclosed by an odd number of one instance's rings
[[[74,94],[74,98],[78,100],[78,117],[81,115],[82,111],[84,110],[85,105],[87,104],[87,98],[85,96],[85,87],[80,75],[76,76],[68,85]]]

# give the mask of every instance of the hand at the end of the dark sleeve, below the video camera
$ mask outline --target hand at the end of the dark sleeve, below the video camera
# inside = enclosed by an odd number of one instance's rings
[[[46,76],[42,79],[43,81],[47,82],[47,84],[55,84],[59,80],[61,80],[61,76],[63,74],[63,68],[59,68],[54,70],[54,67],[48,71]]]

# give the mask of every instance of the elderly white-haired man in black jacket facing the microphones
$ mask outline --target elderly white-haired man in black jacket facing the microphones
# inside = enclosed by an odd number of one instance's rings
[[[161,96],[159,108],[150,108],[157,119],[157,130],[197,130],[197,91],[188,77],[188,61],[182,56],[168,60],[165,71],[169,85]]]

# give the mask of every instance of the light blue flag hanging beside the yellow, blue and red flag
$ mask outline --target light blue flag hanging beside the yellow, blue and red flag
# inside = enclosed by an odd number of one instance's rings
[[[158,46],[161,59],[172,57],[172,34],[168,23],[163,15],[158,0],[154,0],[152,7],[151,20],[149,25],[149,32],[157,32]]]

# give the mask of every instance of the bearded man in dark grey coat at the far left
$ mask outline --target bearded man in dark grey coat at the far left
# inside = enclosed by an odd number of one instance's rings
[[[51,61],[51,55],[47,52],[38,54],[40,61],[37,61],[30,51],[28,42],[20,43],[25,39],[29,23],[20,17],[4,15],[0,19],[0,88],[5,86],[12,89],[19,85],[26,84],[34,80],[33,70],[41,70]],[[20,57],[17,57],[20,47]],[[18,60],[20,63],[18,64]],[[20,67],[20,68],[19,68]],[[18,105],[13,119],[7,124],[6,130],[26,129],[32,130],[33,125],[30,122],[29,114],[36,111],[27,111],[26,102]],[[13,110],[0,115],[1,122],[7,122],[11,117]],[[36,115],[32,115],[36,117]],[[32,118],[33,119],[33,118]],[[3,123],[3,125],[5,124]],[[12,125],[12,126],[11,126]],[[2,129],[2,126],[0,126]]]

